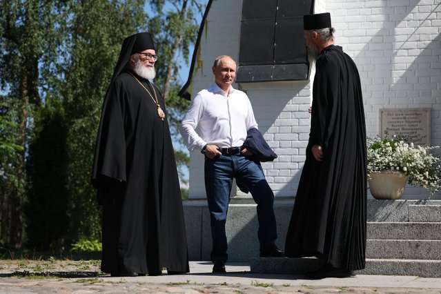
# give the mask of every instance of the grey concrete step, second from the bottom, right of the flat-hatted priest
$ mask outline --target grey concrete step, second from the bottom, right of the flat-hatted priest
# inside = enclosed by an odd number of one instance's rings
[[[366,257],[375,259],[440,259],[440,240],[367,240]]]

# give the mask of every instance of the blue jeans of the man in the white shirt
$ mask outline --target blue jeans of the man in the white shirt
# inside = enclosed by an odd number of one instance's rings
[[[213,239],[211,260],[214,263],[225,263],[228,259],[225,223],[233,178],[250,191],[257,204],[257,220],[259,222],[257,237],[260,248],[273,246],[275,239],[277,239],[273,209],[274,194],[259,165],[237,153],[236,155],[221,155],[214,159],[205,157],[204,170],[208,209],[210,210],[211,237]]]

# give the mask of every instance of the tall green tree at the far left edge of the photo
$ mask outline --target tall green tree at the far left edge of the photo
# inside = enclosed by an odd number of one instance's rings
[[[32,109],[41,103],[41,93],[50,86],[52,63],[57,57],[60,35],[57,27],[64,19],[63,1],[10,0],[0,3],[0,85],[8,88],[8,97],[18,102],[20,112],[13,120],[18,121],[19,132],[14,140],[21,148],[15,150],[8,162],[11,175],[6,179],[10,188],[1,197],[7,199],[9,236],[7,242],[21,248],[26,181],[26,147],[30,137],[28,124]],[[41,72],[40,68],[48,68]],[[3,221],[3,219],[2,219]]]

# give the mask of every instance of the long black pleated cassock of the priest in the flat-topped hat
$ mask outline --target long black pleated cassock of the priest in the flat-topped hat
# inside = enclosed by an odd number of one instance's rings
[[[311,153],[321,145],[323,161]],[[365,266],[366,126],[360,76],[340,46],[316,62],[311,133],[286,235],[288,257],[317,256],[337,268]]]

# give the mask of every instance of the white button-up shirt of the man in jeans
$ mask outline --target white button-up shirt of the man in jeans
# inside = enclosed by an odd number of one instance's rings
[[[229,94],[214,83],[197,93],[179,131],[188,150],[206,144],[219,148],[242,146],[246,132],[257,128],[248,96],[230,86]]]

